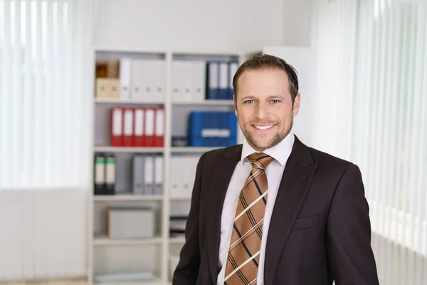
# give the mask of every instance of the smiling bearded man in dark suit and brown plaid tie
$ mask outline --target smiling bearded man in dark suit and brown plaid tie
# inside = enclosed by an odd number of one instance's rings
[[[233,88],[245,140],[201,156],[172,284],[379,284],[359,168],[292,133],[294,68],[255,56]]]

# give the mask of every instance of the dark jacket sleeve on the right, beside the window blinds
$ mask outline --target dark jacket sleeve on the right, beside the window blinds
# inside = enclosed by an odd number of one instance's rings
[[[335,189],[326,240],[335,284],[379,284],[371,249],[369,205],[357,165],[349,165]]]

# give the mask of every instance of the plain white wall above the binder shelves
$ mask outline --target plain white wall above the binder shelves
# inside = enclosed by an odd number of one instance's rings
[[[103,0],[95,46],[252,50],[308,45],[311,1]]]

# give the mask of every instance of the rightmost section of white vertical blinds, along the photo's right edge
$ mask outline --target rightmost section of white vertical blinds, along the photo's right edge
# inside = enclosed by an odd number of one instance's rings
[[[352,159],[382,284],[427,280],[427,5],[359,0]]]

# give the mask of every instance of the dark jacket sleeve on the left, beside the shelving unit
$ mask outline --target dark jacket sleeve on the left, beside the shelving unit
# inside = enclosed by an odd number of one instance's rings
[[[201,168],[204,160],[202,155],[196,167],[191,195],[191,207],[186,222],[185,243],[179,255],[179,263],[174,271],[172,285],[194,285],[199,275],[200,249],[199,249],[199,206],[201,190]]]

